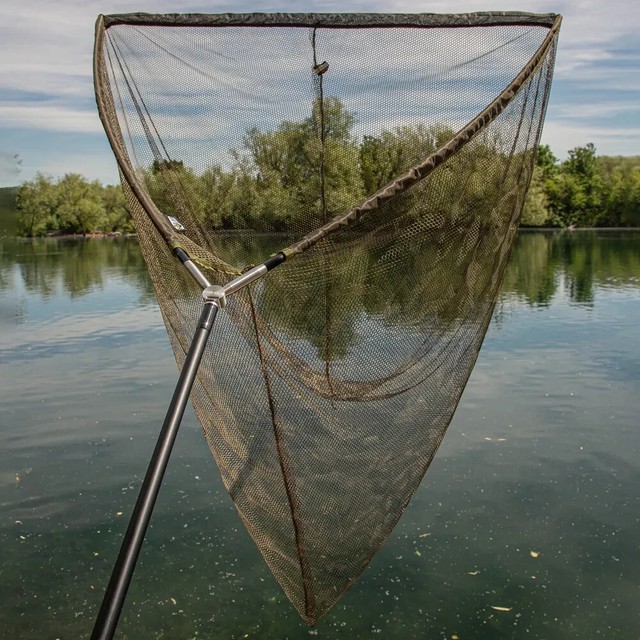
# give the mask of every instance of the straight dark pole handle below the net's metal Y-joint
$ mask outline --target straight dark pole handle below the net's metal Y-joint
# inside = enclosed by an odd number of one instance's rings
[[[169,456],[171,455],[217,312],[218,305],[212,300],[205,299],[197,329],[182,366],[171,404],[167,410],[118,559],[113,568],[111,579],[91,634],[91,640],[111,640],[115,633],[138,555],[149,526],[151,513],[162,485]]]

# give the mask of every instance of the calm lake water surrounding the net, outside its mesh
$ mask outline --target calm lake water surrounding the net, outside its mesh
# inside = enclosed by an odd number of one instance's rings
[[[314,629],[189,412],[117,637],[637,637],[639,318],[640,232],[521,233],[436,459]],[[177,378],[135,240],[0,240],[0,324],[0,638],[85,638]]]

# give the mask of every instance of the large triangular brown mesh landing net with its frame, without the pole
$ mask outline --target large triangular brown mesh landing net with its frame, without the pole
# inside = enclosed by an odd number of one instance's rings
[[[202,289],[269,269],[231,287],[191,397],[308,623],[385,542],[451,421],[518,227],[559,27],[520,13],[98,19],[100,116],[179,367]]]

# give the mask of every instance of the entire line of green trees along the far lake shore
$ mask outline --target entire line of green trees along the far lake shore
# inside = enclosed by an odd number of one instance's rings
[[[305,218],[319,225],[419,163],[452,135],[444,127],[403,126],[379,136],[353,134],[355,119],[337,98],[316,103],[302,122],[273,131],[247,131],[233,164],[197,173],[180,160],[156,161],[141,171],[167,214],[193,216],[212,229],[296,229]],[[323,131],[322,141],[319,131]],[[492,140],[476,140],[428,178],[430,214],[442,224],[490,211],[505,191],[508,155]],[[451,176],[458,176],[459,189]],[[520,185],[513,185],[518,191]],[[412,211],[412,192],[397,199]],[[418,198],[420,200],[420,198]],[[419,207],[424,211],[424,203]],[[122,191],[78,174],[58,181],[38,175],[18,190],[23,236],[133,231]],[[189,213],[186,213],[186,210]],[[464,221],[462,221],[464,225]],[[537,163],[522,223],[538,227],[640,226],[640,157],[597,157],[593,144],[559,162],[548,146]]]

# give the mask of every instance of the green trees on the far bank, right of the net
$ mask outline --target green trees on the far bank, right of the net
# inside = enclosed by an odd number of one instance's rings
[[[535,227],[640,226],[640,156],[600,156],[589,143],[559,162],[538,148],[522,223]]]

